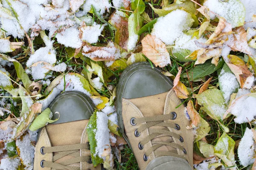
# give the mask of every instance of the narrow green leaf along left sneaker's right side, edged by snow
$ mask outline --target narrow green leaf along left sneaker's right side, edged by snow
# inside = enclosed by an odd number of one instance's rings
[[[93,166],[96,167],[98,164],[103,163],[103,159],[101,159],[98,155],[96,155],[95,148],[97,147],[96,139],[95,139],[95,132],[97,128],[97,115],[96,112],[90,117],[90,120],[87,125],[87,135],[88,140],[90,143],[90,152],[91,158],[93,161]]]

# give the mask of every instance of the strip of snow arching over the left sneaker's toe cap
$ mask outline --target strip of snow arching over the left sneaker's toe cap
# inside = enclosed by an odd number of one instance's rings
[[[76,77],[75,75],[67,74],[65,76],[66,81],[66,87],[65,91],[80,91],[83,94],[86,94],[87,96],[90,96],[90,93],[83,88],[83,84],[80,81],[79,77]],[[49,104],[52,102],[55,97],[61,93],[61,91],[64,90],[64,79],[61,79],[61,82],[52,89],[52,92],[47,96],[47,98],[39,100],[39,103],[42,103],[42,111],[46,109]]]

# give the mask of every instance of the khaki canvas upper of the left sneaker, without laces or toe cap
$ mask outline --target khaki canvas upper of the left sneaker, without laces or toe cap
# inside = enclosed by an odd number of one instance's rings
[[[41,160],[52,161],[52,157],[58,153],[46,153],[42,155],[40,153],[41,147],[49,146],[62,146],[69,144],[79,144],[87,143],[88,137],[86,133],[86,127],[89,120],[79,120],[75,122],[66,122],[60,124],[49,124],[46,127],[43,127],[36,144],[35,152],[35,161],[34,161],[34,170],[51,170],[51,168],[40,166]],[[47,155],[47,159],[46,159]],[[81,156],[90,156],[90,150],[80,150]],[[64,156],[61,159],[55,161],[56,163],[64,162],[73,158],[73,156]],[[69,166],[80,167],[81,170],[100,170],[100,166],[96,168],[93,167],[93,164],[88,164],[87,162],[81,162],[72,164]]]

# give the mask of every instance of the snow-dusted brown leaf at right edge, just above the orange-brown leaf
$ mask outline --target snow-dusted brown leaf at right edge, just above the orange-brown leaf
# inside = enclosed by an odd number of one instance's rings
[[[247,33],[244,26],[233,28],[233,34],[228,36],[229,40],[224,44],[230,46],[232,51],[241,51],[245,54],[252,55],[247,43]]]

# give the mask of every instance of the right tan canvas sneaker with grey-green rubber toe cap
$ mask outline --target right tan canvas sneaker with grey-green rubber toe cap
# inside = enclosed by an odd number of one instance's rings
[[[186,129],[189,120],[172,87],[172,80],[148,62],[128,66],[119,80],[116,110],[120,130],[140,170],[173,166],[191,170],[193,166],[192,130]]]

